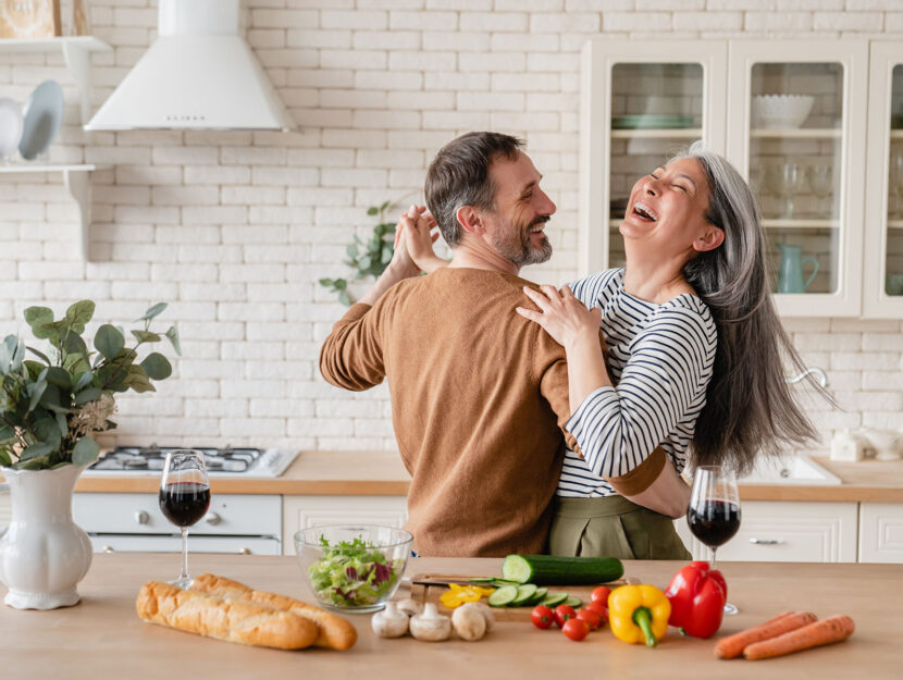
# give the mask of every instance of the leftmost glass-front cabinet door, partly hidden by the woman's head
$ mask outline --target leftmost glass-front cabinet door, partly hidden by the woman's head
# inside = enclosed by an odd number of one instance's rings
[[[623,265],[618,226],[638,178],[696,139],[725,150],[727,44],[668,47],[610,39],[584,47],[580,275]]]

